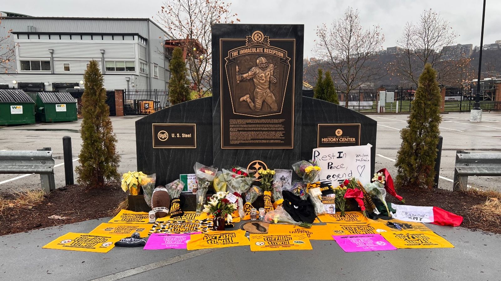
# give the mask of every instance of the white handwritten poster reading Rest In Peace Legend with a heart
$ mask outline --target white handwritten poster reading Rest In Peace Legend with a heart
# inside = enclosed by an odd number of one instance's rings
[[[362,184],[371,179],[371,145],[320,147],[313,149],[313,160],[322,168],[320,181],[338,186],[354,176]]]

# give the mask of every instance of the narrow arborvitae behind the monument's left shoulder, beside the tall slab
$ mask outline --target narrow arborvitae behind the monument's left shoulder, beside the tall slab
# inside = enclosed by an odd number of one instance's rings
[[[175,47],[172,52],[172,59],[169,62],[170,81],[169,81],[169,99],[170,104],[174,105],[190,100],[189,81],[186,71],[186,62],[183,59],[183,51],[180,47]]]

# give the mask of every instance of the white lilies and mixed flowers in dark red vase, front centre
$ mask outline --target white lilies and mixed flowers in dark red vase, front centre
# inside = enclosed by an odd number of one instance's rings
[[[219,191],[207,197],[207,204],[203,205],[203,211],[214,216],[212,230],[224,230],[224,222],[231,222],[231,213],[236,210],[236,203],[230,202],[226,195],[229,192]]]

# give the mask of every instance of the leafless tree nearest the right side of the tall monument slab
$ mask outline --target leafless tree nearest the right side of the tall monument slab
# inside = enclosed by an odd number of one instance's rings
[[[381,67],[369,63],[382,49],[381,28],[376,25],[364,30],[358,10],[348,7],[342,18],[329,27],[325,23],[318,26],[316,32],[318,39],[313,51],[317,58],[326,62],[324,67],[333,72],[334,80],[341,80],[346,86],[346,107],[350,90],[386,74]]]

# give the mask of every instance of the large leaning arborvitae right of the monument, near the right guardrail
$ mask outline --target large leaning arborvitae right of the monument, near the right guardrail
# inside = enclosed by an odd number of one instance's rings
[[[400,132],[402,144],[397,153],[396,185],[399,187],[432,188],[437,156],[440,90],[436,71],[426,63],[412,101],[407,127]]]

